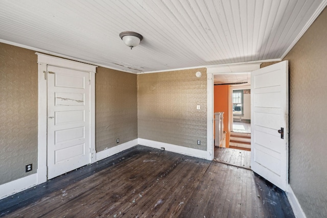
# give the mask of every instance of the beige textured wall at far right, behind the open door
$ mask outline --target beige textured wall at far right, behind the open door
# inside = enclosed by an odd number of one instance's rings
[[[327,217],[327,11],[284,58],[290,75],[290,184],[307,217]]]

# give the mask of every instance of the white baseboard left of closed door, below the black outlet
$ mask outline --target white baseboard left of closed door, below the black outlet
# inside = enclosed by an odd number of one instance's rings
[[[32,174],[0,185],[0,199],[7,198],[20,191],[24,191],[37,184],[37,174]]]

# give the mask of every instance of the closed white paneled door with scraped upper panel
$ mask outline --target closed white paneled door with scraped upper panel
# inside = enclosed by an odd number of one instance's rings
[[[48,66],[48,179],[90,163],[88,72]]]

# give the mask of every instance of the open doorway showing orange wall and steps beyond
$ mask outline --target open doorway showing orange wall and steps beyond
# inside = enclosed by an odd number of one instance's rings
[[[214,75],[214,114],[223,113],[224,133],[217,146],[215,125],[215,161],[250,168],[250,88],[249,72]]]

